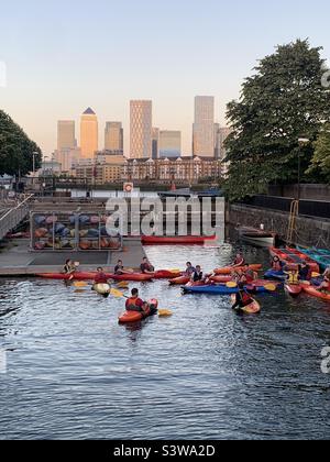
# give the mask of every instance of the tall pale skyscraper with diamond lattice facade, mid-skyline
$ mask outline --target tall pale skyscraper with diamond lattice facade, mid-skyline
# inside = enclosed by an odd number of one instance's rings
[[[131,101],[131,158],[152,157],[152,101]]]

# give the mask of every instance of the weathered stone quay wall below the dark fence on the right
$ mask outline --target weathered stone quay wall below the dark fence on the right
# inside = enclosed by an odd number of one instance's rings
[[[286,238],[289,215],[275,210],[257,209],[249,206],[231,205],[228,207],[227,221],[233,226],[258,228],[261,223],[266,230],[276,231],[282,239]],[[299,245],[330,249],[330,220],[301,217],[297,221],[295,243]]]

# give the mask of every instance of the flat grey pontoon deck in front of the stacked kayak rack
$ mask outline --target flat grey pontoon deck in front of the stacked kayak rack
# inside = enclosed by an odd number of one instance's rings
[[[105,266],[112,271],[118,260],[130,268],[139,268],[145,255],[139,239],[124,240],[122,252],[29,252],[29,241],[13,241],[6,250],[0,251],[0,276],[24,276],[37,273],[56,273],[67,258],[79,261],[81,271],[94,271]]]

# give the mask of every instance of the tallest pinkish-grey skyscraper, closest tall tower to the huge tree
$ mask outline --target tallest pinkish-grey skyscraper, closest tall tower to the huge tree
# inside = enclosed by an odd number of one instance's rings
[[[195,98],[193,153],[199,157],[215,157],[215,98]]]

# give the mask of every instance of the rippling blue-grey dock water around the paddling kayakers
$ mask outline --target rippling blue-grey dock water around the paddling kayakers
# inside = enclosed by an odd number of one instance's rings
[[[158,267],[211,270],[231,245],[150,248]],[[265,251],[245,249],[250,262]],[[321,373],[330,306],[284,293],[238,317],[228,297],[140,285],[172,318],[119,327],[123,300],[61,282],[0,282],[1,439],[328,439],[330,376]]]

